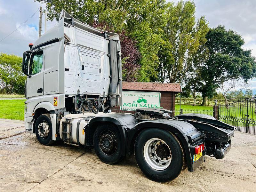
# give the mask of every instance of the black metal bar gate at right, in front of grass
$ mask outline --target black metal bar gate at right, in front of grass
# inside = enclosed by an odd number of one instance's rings
[[[236,131],[256,135],[256,99],[229,101],[228,105],[219,104],[220,121],[235,126]]]

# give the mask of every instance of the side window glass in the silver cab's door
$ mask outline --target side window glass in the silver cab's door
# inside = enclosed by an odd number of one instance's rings
[[[37,52],[31,55],[29,63],[29,75],[39,73],[43,68],[43,52]]]

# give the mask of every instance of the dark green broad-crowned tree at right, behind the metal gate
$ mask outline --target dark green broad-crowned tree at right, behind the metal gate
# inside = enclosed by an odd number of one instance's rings
[[[251,56],[251,50],[245,51],[241,47],[244,40],[235,31],[218,26],[210,29],[206,38],[207,42],[200,51],[207,57],[197,66],[204,80],[200,89],[204,98],[202,105],[206,105],[207,97],[212,97],[223,82],[240,77],[247,82],[256,76],[255,58]]]

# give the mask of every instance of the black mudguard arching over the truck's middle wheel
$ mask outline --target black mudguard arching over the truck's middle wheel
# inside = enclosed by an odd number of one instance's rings
[[[124,141],[121,143],[122,145],[122,155],[126,156],[127,150],[127,136],[138,121],[135,117],[130,114],[125,113],[111,113],[109,115],[95,116],[89,122],[89,125],[85,129],[85,141],[86,146],[92,146],[93,143],[93,133],[99,124],[111,123],[115,124],[118,128],[118,131],[121,136],[121,140]]]

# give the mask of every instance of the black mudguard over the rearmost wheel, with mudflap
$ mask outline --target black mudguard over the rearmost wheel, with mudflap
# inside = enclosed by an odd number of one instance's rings
[[[185,158],[188,166],[188,171],[194,172],[195,169],[204,161],[204,158],[193,162],[192,156],[194,154],[194,148],[196,145],[204,143],[204,138],[201,132],[197,131],[196,128],[185,121],[172,121],[172,120],[154,120],[154,121],[143,121],[138,123],[134,129],[137,131],[133,133],[135,136],[138,135],[142,129],[159,128],[165,129],[172,132],[180,141],[184,151]],[[130,137],[131,138],[131,137]],[[131,140],[128,140],[131,143]],[[130,144],[128,143],[128,145]]]

